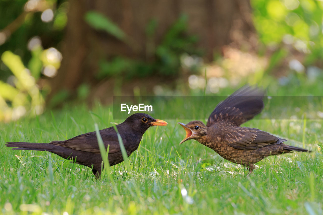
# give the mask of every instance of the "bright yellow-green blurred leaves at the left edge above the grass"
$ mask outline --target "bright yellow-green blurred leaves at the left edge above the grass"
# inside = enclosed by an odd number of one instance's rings
[[[60,67],[60,53],[55,48],[43,50],[36,44],[31,49],[32,58],[26,68],[21,57],[11,51],[1,55],[3,64],[10,69],[13,76],[12,85],[0,81],[0,121],[16,120],[25,114],[41,114],[45,108],[48,90],[40,90],[37,85],[41,72],[47,76],[54,75]]]

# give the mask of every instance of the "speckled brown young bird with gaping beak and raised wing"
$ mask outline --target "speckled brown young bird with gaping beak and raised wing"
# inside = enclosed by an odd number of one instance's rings
[[[244,86],[220,102],[211,113],[206,126],[201,121],[191,121],[186,125],[186,137],[180,144],[195,139],[212,148],[222,158],[249,168],[253,172],[255,163],[270,155],[280,155],[293,151],[309,151],[288,146],[286,139],[278,138],[257,128],[240,125],[261,112],[264,107],[264,90]]]

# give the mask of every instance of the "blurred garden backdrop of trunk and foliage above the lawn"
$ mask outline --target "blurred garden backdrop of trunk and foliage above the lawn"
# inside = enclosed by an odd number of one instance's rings
[[[113,95],[321,95],[318,0],[0,0],[0,121]]]

